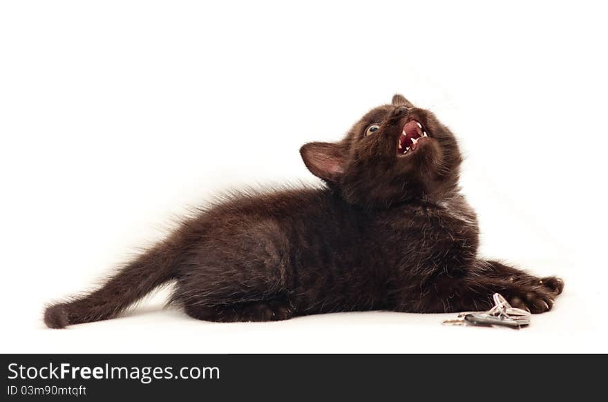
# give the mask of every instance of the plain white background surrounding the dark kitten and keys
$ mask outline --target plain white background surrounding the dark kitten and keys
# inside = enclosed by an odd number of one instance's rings
[[[13,1],[0,6],[0,352],[608,352],[605,10],[593,2]],[[161,310],[48,330],[188,205],[313,181],[401,92],[462,142],[482,254],[564,294],[519,332],[454,314],[218,324]]]

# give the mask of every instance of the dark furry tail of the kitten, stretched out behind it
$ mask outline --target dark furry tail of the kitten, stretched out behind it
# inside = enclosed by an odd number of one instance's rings
[[[44,323],[49,328],[111,319],[169,281],[176,274],[180,250],[169,242],[159,243],[125,265],[94,292],[49,305]]]

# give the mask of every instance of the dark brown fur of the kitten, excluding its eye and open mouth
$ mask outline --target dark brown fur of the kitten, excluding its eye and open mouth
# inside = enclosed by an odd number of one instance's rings
[[[430,139],[397,156],[410,117]],[[380,129],[365,137],[372,123]],[[170,280],[172,301],[208,321],[485,310],[494,292],[544,312],[562,291],[558,278],[477,257],[475,212],[458,188],[457,142],[401,95],[365,114],[339,143],[308,143],[301,155],[327,186],[227,197],[99,290],[47,308],[46,325],[111,319]]]

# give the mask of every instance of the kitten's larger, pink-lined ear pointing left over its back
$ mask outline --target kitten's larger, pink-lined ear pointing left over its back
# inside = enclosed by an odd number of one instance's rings
[[[344,172],[345,150],[340,143],[311,142],[300,148],[304,164],[316,177],[338,180]]]

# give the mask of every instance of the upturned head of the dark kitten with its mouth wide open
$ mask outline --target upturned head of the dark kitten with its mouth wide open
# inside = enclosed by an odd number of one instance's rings
[[[337,143],[307,143],[308,170],[365,208],[441,201],[457,188],[462,157],[454,135],[402,95],[370,110]]]

